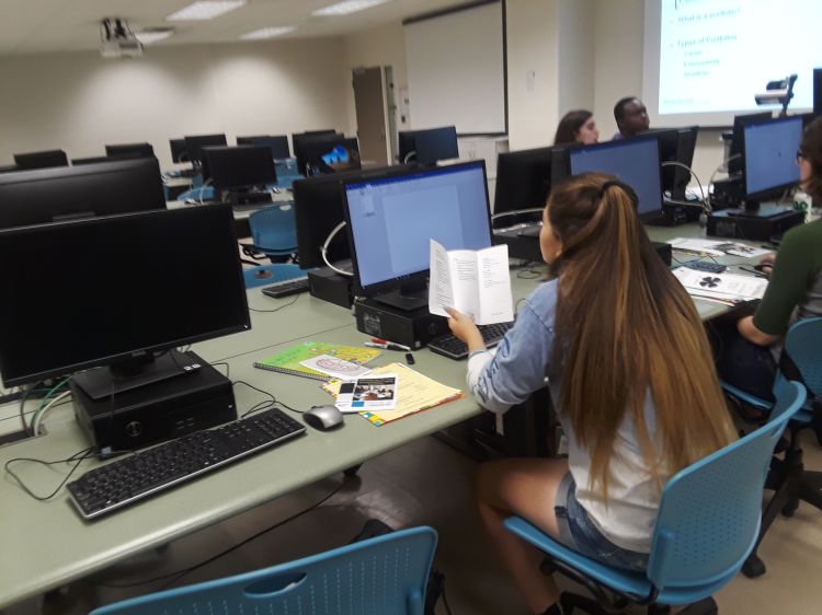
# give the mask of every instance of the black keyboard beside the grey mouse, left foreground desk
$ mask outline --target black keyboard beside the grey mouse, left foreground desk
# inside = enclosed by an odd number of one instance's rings
[[[90,469],[68,484],[80,514],[96,519],[306,430],[276,408]]]

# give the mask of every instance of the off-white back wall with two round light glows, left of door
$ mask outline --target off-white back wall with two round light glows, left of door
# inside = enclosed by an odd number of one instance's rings
[[[340,38],[148,48],[134,60],[94,53],[0,58],[0,164],[21,151],[102,155],[201,132],[290,134],[349,126]]]

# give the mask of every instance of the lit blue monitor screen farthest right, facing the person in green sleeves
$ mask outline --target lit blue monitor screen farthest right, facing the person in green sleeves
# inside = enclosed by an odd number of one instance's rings
[[[796,161],[801,141],[800,116],[745,125],[742,159],[746,199],[775,198],[799,182]]]

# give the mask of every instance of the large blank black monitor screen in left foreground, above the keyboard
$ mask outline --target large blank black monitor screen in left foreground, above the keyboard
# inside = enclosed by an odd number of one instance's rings
[[[251,328],[226,206],[0,231],[0,278],[5,386]]]

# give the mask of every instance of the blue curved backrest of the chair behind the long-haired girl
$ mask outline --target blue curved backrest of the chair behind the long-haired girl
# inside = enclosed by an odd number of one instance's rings
[[[804,397],[802,385],[787,383],[766,425],[667,481],[648,565],[659,590],[715,583],[741,568],[758,535],[774,446]]]

